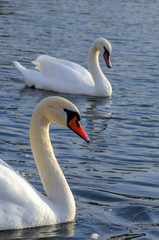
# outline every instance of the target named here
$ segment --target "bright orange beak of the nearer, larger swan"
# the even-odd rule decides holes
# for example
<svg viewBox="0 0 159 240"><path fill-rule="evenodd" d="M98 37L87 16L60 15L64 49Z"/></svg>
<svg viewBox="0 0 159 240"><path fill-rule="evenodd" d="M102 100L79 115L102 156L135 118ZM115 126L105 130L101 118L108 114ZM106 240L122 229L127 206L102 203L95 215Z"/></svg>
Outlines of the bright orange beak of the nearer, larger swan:
<svg viewBox="0 0 159 240"><path fill-rule="evenodd" d="M73 130L75 133L77 133L81 138L83 138L86 142L89 142L89 137L83 130L80 122L77 120L77 117L72 118L68 122L68 127Z"/></svg>

